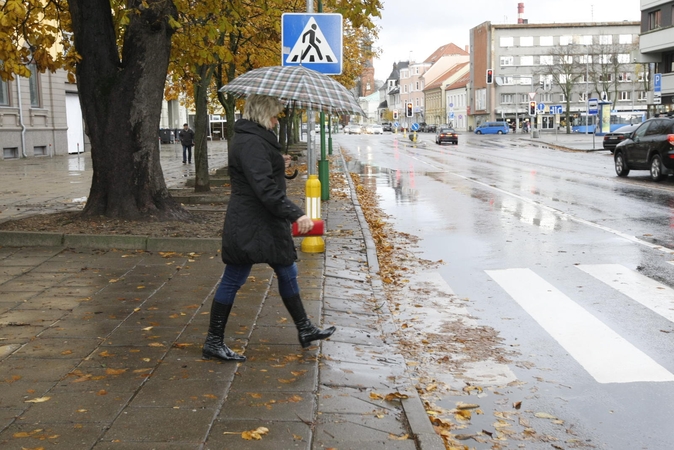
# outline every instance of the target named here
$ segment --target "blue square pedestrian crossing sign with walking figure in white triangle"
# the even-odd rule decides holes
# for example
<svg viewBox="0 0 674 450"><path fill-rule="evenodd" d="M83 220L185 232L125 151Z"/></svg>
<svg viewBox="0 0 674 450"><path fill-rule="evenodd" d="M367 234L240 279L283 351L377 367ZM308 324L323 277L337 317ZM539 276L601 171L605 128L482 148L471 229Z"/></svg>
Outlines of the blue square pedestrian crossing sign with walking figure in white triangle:
<svg viewBox="0 0 674 450"><path fill-rule="evenodd" d="M341 14L285 13L281 16L281 63L339 75L342 36Z"/></svg>

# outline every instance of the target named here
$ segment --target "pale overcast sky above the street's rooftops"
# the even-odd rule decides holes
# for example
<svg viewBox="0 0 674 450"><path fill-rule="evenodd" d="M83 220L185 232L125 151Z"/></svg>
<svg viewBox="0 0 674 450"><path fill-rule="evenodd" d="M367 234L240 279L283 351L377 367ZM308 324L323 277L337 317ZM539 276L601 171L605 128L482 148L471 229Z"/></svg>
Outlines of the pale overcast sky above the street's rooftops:
<svg viewBox="0 0 674 450"><path fill-rule="evenodd" d="M468 32L482 22L517 23L518 1L382 0L375 79L385 80L393 63L423 61L450 42L465 48ZM639 0L529 0L523 17L529 23L616 22L641 20Z"/></svg>

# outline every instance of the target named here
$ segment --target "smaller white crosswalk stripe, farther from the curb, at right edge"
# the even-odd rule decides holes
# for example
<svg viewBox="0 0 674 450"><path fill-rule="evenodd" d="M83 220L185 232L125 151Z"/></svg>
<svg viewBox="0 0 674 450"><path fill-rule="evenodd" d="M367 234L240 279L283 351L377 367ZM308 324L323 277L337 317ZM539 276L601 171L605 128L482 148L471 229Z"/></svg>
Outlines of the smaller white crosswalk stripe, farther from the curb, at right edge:
<svg viewBox="0 0 674 450"><path fill-rule="evenodd" d="M674 322L674 289L620 264L580 264L577 267Z"/></svg>

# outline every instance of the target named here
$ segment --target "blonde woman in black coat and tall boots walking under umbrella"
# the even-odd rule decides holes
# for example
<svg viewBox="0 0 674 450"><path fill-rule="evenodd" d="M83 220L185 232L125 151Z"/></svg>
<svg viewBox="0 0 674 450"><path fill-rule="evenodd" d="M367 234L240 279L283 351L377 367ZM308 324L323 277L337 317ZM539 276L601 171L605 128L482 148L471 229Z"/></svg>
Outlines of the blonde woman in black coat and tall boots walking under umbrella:
<svg viewBox="0 0 674 450"><path fill-rule="evenodd" d="M228 164L231 196L222 231L222 261L225 270L211 305L208 335L202 349L204 359L245 361L224 343L227 319L234 298L246 282L253 264L269 264L278 278L278 289L297 327L299 342L326 339L335 327L316 328L307 318L297 283L297 253L291 223L299 232L311 231L313 221L286 196L285 168L289 159L272 131L283 104L265 95L246 100L243 118L234 124Z"/></svg>

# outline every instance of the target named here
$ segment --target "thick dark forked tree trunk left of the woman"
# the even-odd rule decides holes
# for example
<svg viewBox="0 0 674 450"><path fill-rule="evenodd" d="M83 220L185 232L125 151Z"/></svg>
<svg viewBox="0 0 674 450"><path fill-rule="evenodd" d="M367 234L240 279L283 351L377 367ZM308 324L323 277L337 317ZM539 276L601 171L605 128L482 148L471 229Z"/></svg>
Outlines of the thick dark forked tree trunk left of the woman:
<svg viewBox="0 0 674 450"><path fill-rule="evenodd" d="M129 24L117 46L109 0L70 0L77 87L91 141L93 179L84 215L185 219L159 160L159 121L171 36L170 0L128 1Z"/></svg>

